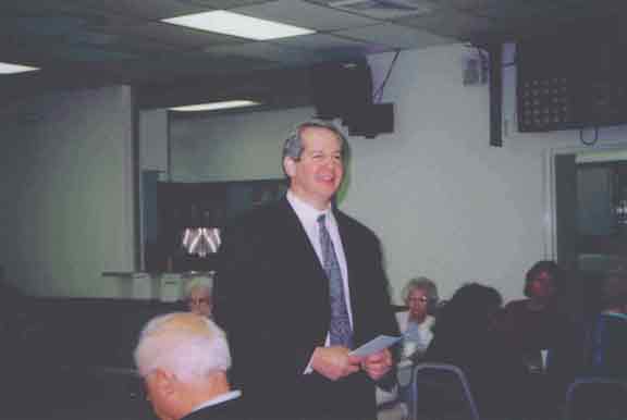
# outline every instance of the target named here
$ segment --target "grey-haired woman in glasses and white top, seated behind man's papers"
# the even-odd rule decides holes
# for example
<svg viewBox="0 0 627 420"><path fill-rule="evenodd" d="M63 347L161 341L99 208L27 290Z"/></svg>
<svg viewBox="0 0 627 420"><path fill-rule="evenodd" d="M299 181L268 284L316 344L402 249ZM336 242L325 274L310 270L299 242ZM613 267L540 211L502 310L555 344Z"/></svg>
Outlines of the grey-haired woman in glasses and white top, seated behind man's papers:
<svg viewBox="0 0 627 420"><path fill-rule="evenodd" d="M403 357L422 355L433 338L435 318L431 313L438 305L438 287L427 277L411 279L403 288L403 300L408 310L396 313L403 334Z"/></svg>

